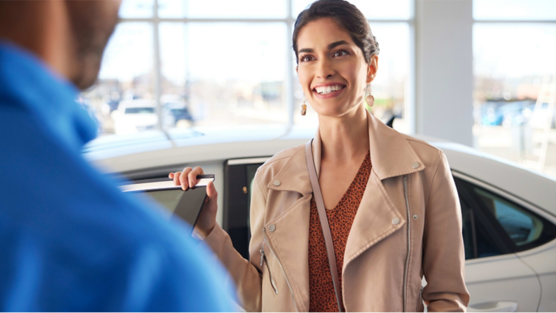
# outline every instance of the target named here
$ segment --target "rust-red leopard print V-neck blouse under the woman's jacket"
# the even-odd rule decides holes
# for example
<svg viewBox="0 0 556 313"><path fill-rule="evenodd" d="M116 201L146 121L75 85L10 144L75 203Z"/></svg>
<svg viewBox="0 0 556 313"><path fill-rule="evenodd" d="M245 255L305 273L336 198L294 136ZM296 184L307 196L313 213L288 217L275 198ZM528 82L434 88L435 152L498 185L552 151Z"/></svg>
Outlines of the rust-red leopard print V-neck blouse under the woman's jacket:
<svg viewBox="0 0 556 313"><path fill-rule="evenodd" d="M347 235L350 234L355 214L367 187L371 166L369 151L340 202L334 209L326 210L330 232L332 233L332 242L334 242L336 267L340 276L340 290L342 289L341 273ZM314 197L311 200L309 224L309 312L338 312L334 283L332 282L326 253L325 237L322 235Z"/></svg>

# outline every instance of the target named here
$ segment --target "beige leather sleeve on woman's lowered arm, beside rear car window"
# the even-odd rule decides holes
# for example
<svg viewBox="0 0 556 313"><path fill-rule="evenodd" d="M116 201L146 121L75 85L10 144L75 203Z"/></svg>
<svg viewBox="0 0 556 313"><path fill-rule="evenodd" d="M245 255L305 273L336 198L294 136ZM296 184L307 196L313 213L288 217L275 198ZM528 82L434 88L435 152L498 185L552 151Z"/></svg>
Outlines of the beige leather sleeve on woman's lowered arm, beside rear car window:
<svg viewBox="0 0 556 313"><path fill-rule="evenodd" d="M465 253L461 208L454 178L443 152L439 153L426 204L423 233L423 300L428 312L465 312Z"/></svg>

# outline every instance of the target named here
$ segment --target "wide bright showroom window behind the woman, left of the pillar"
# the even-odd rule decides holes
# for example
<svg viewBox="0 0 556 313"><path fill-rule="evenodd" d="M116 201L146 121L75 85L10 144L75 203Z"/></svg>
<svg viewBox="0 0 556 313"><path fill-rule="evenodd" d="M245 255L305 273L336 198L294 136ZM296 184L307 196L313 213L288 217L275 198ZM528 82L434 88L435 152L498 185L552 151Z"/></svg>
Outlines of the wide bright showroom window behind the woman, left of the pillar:
<svg viewBox="0 0 556 313"><path fill-rule="evenodd" d="M380 46L375 116L407 131L413 1L353 0ZM291 34L308 0L124 0L99 82L81 102L101 135L141 130L316 126Z"/></svg>

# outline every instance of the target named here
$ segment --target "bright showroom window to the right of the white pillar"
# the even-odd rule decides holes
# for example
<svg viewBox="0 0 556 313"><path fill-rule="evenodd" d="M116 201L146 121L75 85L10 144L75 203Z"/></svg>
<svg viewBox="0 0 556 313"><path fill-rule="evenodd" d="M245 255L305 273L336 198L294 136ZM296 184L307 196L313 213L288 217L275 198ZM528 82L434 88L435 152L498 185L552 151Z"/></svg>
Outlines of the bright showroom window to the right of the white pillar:
<svg viewBox="0 0 556 313"><path fill-rule="evenodd" d="M475 148L556 177L556 1L473 1Z"/></svg>

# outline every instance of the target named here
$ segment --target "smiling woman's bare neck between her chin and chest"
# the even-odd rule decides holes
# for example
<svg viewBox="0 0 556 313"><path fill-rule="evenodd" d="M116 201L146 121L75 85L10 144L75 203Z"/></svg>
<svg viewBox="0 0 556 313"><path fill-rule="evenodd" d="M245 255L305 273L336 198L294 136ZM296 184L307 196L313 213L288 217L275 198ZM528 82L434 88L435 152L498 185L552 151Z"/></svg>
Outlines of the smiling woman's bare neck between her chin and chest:
<svg viewBox="0 0 556 313"><path fill-rule="evenodd" d="M369 150L367 112L363 105L342 117L319 117L321 162L359 162Z"/></svg>

